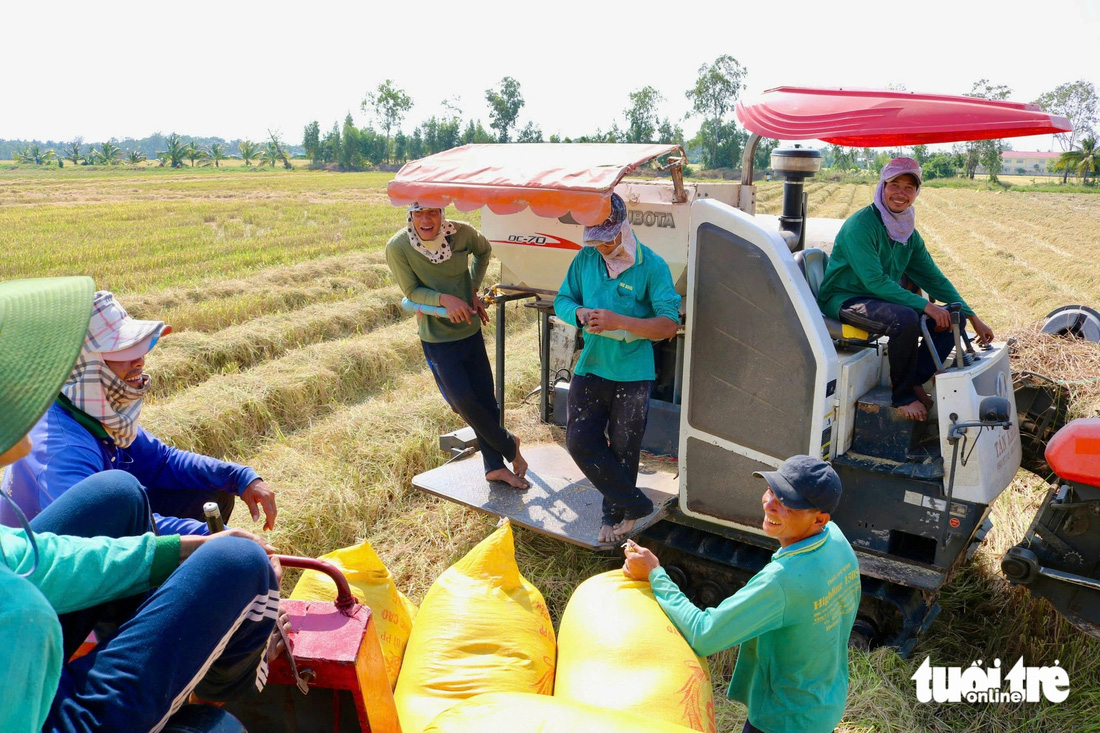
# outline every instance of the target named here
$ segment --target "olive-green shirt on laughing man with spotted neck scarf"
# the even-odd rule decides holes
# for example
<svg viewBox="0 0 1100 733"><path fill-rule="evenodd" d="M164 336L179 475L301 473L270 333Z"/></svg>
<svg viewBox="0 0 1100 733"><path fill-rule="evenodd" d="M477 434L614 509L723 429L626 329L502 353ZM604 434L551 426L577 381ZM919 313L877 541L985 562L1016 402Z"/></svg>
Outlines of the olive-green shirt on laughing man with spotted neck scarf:
<svg viewBox="0 0 1100 733"><path fill-rule="evenodd" d="M438 306L440 295L453 295L468 304L473 303L474 294L485 278L493 248L470 225L461 221L453 223L458 231L448 237L451 259L447 262L432 263L417 252L405 229L394 234L386 244L386 264L402 293L413 303ZM481 328L476 317L472 317L469 324L452 324L448 318L436 316L421 316L417 320L420 321L420 340L429 343L460 341Z"/></svg>

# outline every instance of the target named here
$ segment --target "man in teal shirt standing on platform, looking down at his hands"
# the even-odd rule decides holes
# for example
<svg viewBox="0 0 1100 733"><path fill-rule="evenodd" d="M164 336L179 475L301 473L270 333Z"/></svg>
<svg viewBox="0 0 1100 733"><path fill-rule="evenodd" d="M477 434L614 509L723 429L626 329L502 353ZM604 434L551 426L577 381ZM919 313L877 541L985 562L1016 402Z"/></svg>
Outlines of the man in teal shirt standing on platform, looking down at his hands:
<svg viewBox="0 0 1100 733"><path fill-rule="evenodd" d="M569 265L554 313L584 327L584 349L569 387L565 445L604 495L601 543L627 535L653 511L638 489L641 437L657 372L651 340L671 339L680 296L669 266L637 239L626 203L610 196L610 216L584 228L584 249Z"/></svg>

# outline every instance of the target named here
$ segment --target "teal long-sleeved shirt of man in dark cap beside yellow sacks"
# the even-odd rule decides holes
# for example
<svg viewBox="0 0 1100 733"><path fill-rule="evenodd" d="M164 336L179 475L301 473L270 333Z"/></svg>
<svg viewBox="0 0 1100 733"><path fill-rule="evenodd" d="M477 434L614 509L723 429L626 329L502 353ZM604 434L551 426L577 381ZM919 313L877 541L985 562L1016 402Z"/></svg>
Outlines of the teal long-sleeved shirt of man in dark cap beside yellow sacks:
<svg viewBox="0 0 1100 733"><path fill-rule="evenodd" d="M859 608L859 564L829 522L781 548L717 608L700 611L663 568L657 602L696 654L740 644L729 697L768 733L827 733L848 697L848 635Z"/></svg>

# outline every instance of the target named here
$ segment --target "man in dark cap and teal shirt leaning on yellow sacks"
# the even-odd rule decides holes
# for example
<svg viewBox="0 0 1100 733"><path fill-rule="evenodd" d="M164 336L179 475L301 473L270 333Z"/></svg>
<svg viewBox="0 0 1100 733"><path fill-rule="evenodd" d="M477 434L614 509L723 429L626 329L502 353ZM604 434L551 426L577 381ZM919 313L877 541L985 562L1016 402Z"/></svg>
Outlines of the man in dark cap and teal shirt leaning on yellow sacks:
<svg viewBox="0 0 1100 733"><path fill-rule="evenodd" d="M648 580L696 654L740 644L729 697L748 708L743 733L827 733L848 697L848 636L859 608L859 564L831 515L840 478L794 456L768 483L761 529L779 540L771 562L717 608L700 611L650 550L628 543L623 572Z"/></svg>

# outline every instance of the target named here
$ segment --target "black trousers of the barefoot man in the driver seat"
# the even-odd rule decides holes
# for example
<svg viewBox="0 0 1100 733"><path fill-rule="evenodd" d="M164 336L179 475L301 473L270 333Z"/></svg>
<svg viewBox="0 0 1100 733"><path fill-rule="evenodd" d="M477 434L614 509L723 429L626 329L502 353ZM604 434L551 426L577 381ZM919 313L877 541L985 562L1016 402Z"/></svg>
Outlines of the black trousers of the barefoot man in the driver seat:
<svg viewBox="0 0 1100 733"><path fill-rule="evenodd" d="M916 386L936 373L932 354L922 343L921 314L909 306L877 298L851 298L840 306L840 321L890 337L887 359L890 361L893 405L900 407L916 400ZM955 346L952 331L932 330L931 333L939 359L946 359Z"/></svg>

